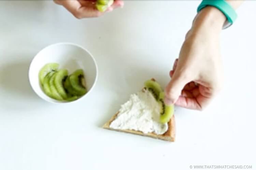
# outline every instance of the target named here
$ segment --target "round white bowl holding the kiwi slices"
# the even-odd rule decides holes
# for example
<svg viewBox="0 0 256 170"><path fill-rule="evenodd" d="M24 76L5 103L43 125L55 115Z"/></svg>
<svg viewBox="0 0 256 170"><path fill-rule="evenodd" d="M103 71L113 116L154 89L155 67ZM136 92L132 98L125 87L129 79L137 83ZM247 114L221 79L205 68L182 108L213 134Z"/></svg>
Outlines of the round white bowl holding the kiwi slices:
<svg viewBox="0 0 256 170"><path fill-rule="evenodd" d="M68 101L52 99L42 90L38 74L47 63L58 63L59 68L67 69L69 74L77 69L84 70L87 93L77 100L85 98L96 84L98 77L97 64L86 49L72 43L58 43L47 46L33 58L29 67L29 82L35 93L48 102L67 103Z"/></svg>

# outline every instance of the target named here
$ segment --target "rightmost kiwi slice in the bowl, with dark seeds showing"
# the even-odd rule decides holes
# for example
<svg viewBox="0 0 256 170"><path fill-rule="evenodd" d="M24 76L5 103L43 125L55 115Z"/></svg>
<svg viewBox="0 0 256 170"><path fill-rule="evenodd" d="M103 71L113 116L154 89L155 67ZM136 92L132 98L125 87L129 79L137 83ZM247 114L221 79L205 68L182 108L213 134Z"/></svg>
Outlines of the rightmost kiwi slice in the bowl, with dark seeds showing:
<svg viewBox="0 0 256 170"><path fill-rule="evenodd" d="M80 95L86 94L84 71L82 69L76 70L69 77L71 87Z"/></svg>

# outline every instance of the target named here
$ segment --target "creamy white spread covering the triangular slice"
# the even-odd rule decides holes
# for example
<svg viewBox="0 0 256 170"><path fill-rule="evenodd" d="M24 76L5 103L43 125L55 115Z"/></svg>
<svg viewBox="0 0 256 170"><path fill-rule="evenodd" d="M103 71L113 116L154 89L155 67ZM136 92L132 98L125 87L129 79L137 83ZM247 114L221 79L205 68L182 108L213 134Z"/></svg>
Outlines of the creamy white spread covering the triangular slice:
<svg viewBox="0 0 256 170"><path fill-rule="evenodd" d="M110 128L120 130L134 130L143 133L164 134L168 124L159 122L160 106L152 93L148 90L132 94L129 101L121 105Z"/></svg>

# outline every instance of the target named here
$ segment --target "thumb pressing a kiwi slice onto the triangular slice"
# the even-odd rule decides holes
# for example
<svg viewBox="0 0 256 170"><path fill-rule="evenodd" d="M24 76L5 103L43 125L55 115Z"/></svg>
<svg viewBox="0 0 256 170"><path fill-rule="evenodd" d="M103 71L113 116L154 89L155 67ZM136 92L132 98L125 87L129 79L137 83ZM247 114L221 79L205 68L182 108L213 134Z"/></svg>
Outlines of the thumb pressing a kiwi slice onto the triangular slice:
<svg viewBox="0 0 256 170"><path fill-rule="evenodd" d="M165 104L174 104L179 99L182 89L188 82L189 80L184 73L174 72L173 78L165 88Z"/></svg>

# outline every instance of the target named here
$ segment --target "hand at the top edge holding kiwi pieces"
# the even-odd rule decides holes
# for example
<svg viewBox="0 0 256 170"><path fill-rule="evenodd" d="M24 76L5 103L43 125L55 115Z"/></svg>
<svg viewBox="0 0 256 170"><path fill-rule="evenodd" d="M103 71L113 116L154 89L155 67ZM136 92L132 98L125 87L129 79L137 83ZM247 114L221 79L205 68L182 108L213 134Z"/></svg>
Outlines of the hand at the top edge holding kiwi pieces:
<svg viewBox="0 0 256 170"><path fill-rule="evenodd" d="M96 0L54 0L54 2L64 6L77 19L99 17L105 12L110 12L115 8L124 6L124 2L122 0L115 0L105 12L99 12L95 6Z"/></svg>

